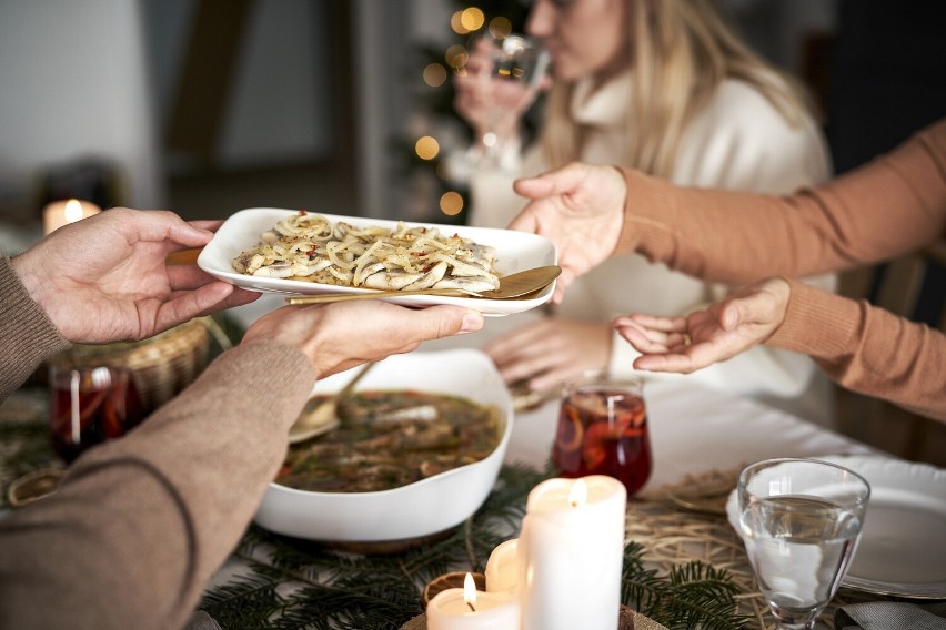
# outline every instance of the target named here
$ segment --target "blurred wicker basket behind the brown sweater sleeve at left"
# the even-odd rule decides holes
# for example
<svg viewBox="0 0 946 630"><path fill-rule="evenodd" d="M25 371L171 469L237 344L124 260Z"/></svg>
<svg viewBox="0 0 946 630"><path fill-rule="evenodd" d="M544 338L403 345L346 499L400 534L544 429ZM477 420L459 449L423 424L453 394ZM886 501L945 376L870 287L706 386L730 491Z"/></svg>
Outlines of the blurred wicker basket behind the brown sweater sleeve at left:
<svg viewBox="0 0 946 630"><path fill-rule="evenodd" d="M131 370L141 403L150 413L193 383L207 367L211 334L222 349L230 346L213 319L199 317L140 342L77 345L61 359Z"/></svg>

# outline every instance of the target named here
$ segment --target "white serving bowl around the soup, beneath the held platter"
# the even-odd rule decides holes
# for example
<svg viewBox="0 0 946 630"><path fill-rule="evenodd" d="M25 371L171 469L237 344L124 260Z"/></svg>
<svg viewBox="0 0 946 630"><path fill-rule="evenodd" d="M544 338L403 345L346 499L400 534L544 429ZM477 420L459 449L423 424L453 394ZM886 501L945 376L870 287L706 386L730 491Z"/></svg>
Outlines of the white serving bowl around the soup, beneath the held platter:
<svg viewBox="0 0 946 630"><path fill-rule="evenodd" d="M338 392L358 368L315 385ZM463 396L500 409L502 438L485 459L407 486L379 492L313 492L270 484L254 520L296 538L380 542L450 529L483 505L493 489L512 433L513 405L493 362L476 349L394 355L369 372L356 389L416 389Z"/></svg>

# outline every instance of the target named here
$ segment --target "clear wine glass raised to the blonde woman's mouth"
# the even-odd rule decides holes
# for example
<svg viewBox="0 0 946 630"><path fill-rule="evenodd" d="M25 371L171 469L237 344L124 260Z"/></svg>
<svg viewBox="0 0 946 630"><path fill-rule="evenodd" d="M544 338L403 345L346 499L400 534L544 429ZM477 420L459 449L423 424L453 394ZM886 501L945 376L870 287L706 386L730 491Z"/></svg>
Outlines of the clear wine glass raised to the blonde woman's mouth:
<svg viewBox="0 0 946 630"><path fill-rule="evenodd" d="M485 105L477 166L503 167L510 139L515 138L520 118L539 95L550 55L535 38L511 33L504 38L483 35L473 54L483 55L476 78Z"/></svg>

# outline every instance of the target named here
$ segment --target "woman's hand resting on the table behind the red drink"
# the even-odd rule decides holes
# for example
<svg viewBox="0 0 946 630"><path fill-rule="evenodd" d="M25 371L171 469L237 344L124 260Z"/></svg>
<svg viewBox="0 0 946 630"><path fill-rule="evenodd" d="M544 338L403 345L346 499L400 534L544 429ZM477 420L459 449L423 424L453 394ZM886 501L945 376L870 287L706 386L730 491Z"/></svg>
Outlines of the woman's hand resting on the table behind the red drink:
<svg viewBox="0 0 946 630"><path fill-rule="evenodd" d="M544 392L587 369L607 365L611 356L607 324L546 317L483 346L509 383L529 379L529 388Z"/></svg>

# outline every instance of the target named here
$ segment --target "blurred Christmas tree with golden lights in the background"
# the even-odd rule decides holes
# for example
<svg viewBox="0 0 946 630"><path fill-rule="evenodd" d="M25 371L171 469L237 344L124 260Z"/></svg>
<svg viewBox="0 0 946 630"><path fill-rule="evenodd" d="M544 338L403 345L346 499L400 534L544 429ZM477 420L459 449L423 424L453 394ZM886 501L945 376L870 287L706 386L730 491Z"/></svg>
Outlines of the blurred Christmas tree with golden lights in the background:
<svg viewBox="0 0 946 630"><path fill-rule="evenodd" d="M453 110L453 74L465 71L467 45L473 38L489 33L502 38L521 32L529 3L519 0L451 0L453 11L444 24L444 38L417 47L411 80L417 89L412 98L417 103L416 116L409 135L395 140L394 151L404 155L399 176L411 183L409 197L412 220L463 225L466 223L469 194L462 181L452 181L446 159L466 150L472 130Z"/></svg>

